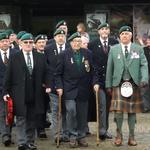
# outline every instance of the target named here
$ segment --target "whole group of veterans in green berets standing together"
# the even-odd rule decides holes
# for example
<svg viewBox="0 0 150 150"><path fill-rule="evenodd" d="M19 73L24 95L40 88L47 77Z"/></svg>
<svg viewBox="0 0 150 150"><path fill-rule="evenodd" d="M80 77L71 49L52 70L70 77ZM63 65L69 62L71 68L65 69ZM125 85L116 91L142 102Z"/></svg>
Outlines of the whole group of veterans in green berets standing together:
<svg viewBox="0 0 150 150"><path fill-rule="evenodd" d="M33 37L26 31L0 33L0 133L6 147L13 144L13 124L6 123L9 97L18 150L36 150L36 133L47 138L49 109L54 141L68 142L70 148L87 147L89 105L95 102L96 92L99 138L113 138L108 132L109 112L113 111L114 144L121 146L123 116L127 113L128 145L137 145L136 113L144 109L140 91L149 84L150 37L143 48L132 42L132 28L122 26L117 41L110 37L109 24L102 23L97 28L98 38L90 41L88 33L80 29L83 25L80 23L77 32L68 37L67 23L61 20L52 39L45 34Z"/></svg>

